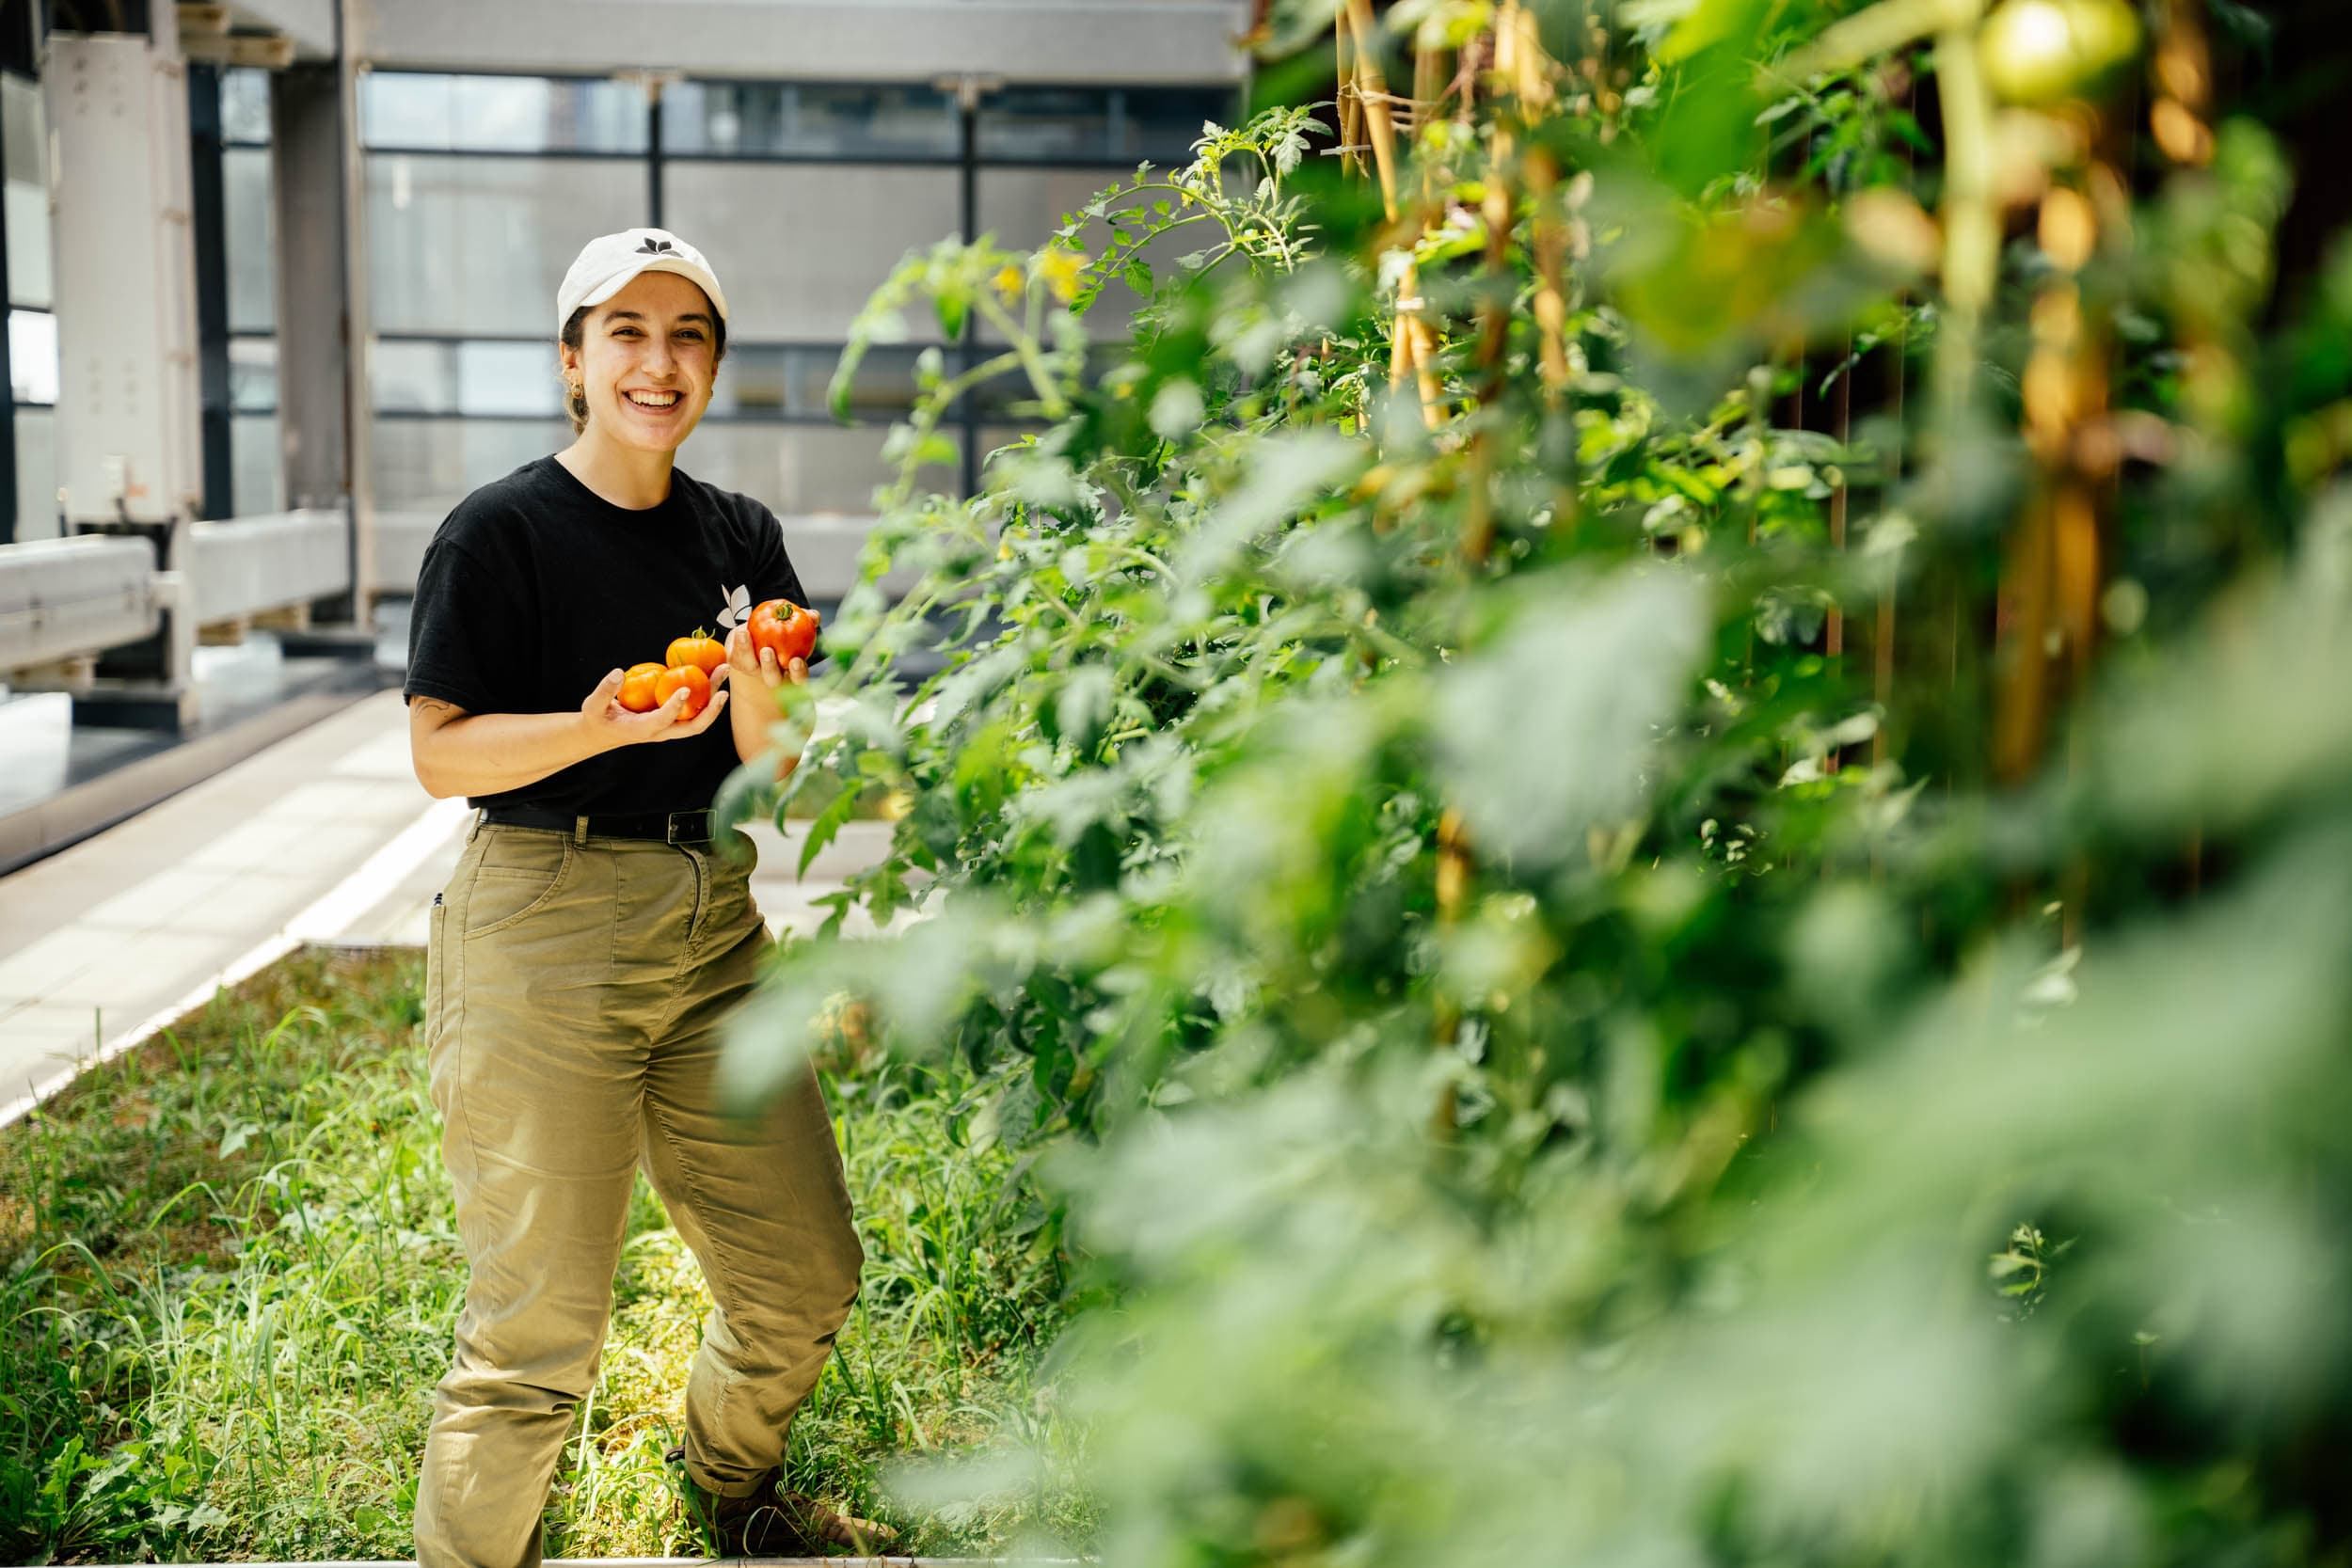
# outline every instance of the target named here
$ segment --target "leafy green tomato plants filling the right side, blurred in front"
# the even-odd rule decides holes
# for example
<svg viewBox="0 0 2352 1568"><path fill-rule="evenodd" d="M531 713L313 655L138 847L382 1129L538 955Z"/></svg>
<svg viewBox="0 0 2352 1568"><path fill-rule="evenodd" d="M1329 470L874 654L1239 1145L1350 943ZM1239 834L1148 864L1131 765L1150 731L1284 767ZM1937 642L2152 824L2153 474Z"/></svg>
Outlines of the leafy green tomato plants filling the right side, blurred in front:
<svg viewBox="0 0 2352 1568"><path fill-rule="evenodd" d="M1421 136L1418 240L1305 162L1244 221L1214 169L1301 122L1211 127L1171 181L1282 242L1155 280L1108 362L1073 310L1164 221L1124 195L877 294L861 336L946 289L1007 350L917 409L776 809L891 790L844 912L920 919L788 950L729 1072L856 1018L978 1074L1105 1291L1063 1380L1105 1561L2343 1559L2352 292L2260 336L2241 122L2067 282L2131 442L2103 672L2002 764L2065 280L1938 292L1983 115L1893 82L1962 9L1646 7L1621 78ZM1865 371L1851 433L1790 418ZM997 374L1042 428L917 494ZM1828 630L1882 602L1886 682Z"/></svg>

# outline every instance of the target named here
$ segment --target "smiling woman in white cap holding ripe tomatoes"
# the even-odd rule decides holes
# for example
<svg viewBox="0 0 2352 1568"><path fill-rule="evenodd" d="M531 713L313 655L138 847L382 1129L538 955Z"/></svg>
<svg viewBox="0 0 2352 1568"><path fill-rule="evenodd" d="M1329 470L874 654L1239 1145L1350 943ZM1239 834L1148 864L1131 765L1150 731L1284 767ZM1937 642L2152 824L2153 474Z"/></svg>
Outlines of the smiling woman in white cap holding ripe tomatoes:
<svg viewBox="0 0 2352 1568"><path fill-rule="evenodd" d="M755 651L739 611L807 595L764 505L675 468L727 350L701 252L659 228L590 240L555 320L576 440L449 512L409 623L416 778L480 806L426 966L470 1281L416 1561L539 1561L640 1164L715 1302L670 1455L694 1519L724 1554L863 1549L889 1530L779 1493L786 1425L863 1262L833 1124L814 1074L757 1121L722 1114L713 1088L769 938L748 839L717 844L708 809L769 750L771 691L807 679ZM684 691L621 708L621 665L713 621L734 630L699 715Z"/></svg>

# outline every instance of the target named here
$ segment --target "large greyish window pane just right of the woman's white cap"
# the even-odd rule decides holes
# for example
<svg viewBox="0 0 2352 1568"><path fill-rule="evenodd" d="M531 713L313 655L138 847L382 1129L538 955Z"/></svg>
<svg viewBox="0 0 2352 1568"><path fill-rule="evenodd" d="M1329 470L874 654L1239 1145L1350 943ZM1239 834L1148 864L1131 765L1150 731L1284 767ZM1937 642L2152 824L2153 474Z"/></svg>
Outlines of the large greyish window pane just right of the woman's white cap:
<svg viewBox="0 0 2352 1568"><path fill-rule="evenodd" d="M955 169L668 162L663 181L668 226L729 284L729 339L837 343L908 249L957 228ZM908 331L936 341L938 322Z"/></svg>

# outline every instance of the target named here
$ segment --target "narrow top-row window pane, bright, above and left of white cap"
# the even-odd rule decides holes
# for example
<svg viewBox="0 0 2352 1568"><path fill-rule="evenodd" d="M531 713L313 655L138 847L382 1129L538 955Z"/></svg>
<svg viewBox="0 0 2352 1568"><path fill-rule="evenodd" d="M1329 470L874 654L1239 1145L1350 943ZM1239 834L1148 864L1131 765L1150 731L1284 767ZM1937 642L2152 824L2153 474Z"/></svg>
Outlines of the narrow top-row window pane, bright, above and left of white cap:
<svg viewBox="0 0 2352 1568"><path fill-rule="evenodd" d="M612 80L369 71L360 141L430 153L642 153L644 92Z"/></svg>

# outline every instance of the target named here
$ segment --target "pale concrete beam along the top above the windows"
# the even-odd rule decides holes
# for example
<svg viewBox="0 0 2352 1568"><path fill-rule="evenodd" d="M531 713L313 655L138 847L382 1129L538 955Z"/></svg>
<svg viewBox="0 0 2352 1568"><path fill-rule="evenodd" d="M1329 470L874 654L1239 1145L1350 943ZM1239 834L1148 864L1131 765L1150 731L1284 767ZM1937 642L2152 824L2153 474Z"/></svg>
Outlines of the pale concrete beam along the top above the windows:
<svg viewBox="0 0 2352 1568"><path fill-rule="evenodd" d="M350 24L358 59L437 71L1216 82L1249 0L353 0Z"/></svg>

